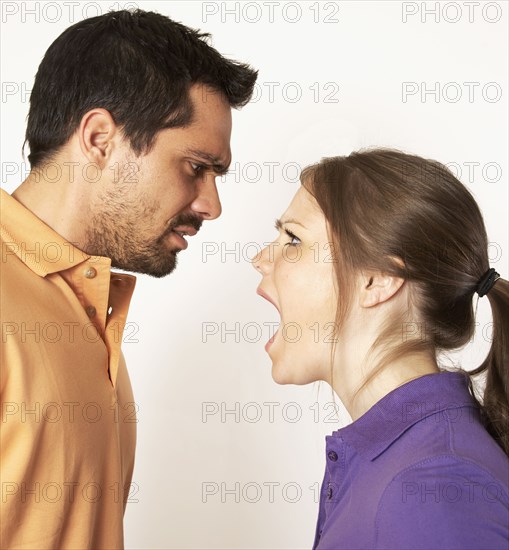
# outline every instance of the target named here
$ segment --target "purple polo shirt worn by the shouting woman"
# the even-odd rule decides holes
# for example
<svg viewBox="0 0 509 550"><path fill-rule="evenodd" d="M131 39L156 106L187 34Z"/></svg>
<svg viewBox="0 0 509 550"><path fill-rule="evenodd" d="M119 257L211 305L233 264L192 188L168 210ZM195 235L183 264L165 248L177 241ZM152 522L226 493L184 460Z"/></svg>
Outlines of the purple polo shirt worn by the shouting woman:
<svg viewBox="0 0 509 550"><path fill-rule="evenodd" d="M325 439L313 550L509 549L509 458L465 375L407 382Z"/></svg>

